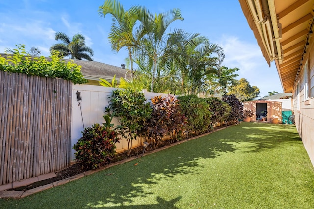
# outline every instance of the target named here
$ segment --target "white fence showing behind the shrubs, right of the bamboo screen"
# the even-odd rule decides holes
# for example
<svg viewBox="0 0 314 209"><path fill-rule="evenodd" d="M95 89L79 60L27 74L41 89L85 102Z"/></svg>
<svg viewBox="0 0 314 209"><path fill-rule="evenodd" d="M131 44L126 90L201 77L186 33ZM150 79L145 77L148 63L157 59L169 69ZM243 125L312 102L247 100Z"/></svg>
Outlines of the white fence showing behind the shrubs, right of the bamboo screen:
<svg viewBox="0 0 314 209"><path fill-rule="evenodd" d="M91 127L95 123L102 124L105 122L103 116L105 115L105 107L109 105L109 97L112 94L112 91L116 88L95 86L95 85L73 85L72 88L72 121L71 121L71 160L73 160L75 150L72 148L74 144L77 143L78 139L82 137L83 123L82 116L84 121L84 127ZM81 105L78 106L76 99L76 92L81 93ZM147 99L147 102L150 102L151 98L156 95L167 96L165 93L152 93L143 90L143 93ZM82 109L82 116L80 112ZM119 122L117 119L112 121L115 125L118 125ZM125 139L121 139L120 143L116 144L117 152L123 152L128 148L128 143ZM133 141L133 147L141 146L141 141Z"/></svg>

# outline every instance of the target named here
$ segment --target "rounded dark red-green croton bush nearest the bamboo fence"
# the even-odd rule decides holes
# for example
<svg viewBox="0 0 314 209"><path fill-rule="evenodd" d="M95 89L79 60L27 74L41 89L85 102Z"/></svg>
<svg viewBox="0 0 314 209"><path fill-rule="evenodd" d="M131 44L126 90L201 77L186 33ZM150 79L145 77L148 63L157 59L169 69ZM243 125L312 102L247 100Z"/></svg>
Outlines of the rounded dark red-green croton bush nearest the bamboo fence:
<svg viewBox="0 0 314 209"><path fill-rule="evenodd" d="M75 159L83 169L96 169L110 163L115 154L118 133L111 126L101 126L96 123L85 128L83 136L73 146Z"/></svg>

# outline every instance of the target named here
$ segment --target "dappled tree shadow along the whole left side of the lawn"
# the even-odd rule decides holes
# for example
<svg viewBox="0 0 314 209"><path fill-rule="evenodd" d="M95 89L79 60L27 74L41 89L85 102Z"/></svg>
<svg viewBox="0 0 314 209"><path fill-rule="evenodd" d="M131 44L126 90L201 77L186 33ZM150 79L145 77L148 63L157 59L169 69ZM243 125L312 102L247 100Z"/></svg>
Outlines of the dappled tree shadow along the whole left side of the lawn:
<svg viewBox="0 0 314 209"><path fill-rule="evenodd" d="M295 127L286 128L269 124L240 124L111 167L21 201L32 199L31 202L36 201L38 206L47 206L53 205L53 201L57 199L58 205L66 206L73 202L77 208L127 208L125 204L132 205L132 208L154 208L155 206L156 208L166 206L175 208L174 204L181 197L172 200L163 200L158 196L154 198L157 194L154 194L150 188L154 185L158 186L160 181L165 181L165 184L167 181L171 183L169 181L179 174L197 175L204 167L202 160L218 158L224 153L243 151L242 142L251 146L250 152L275 148L285 142L299 143L300 138L297 137L293 128L295 129ZM162 189L163 187L160 187L161 191ZM167 192L164 191L165 194ZM52 196L55 196L54 199ZM169 197L169 194L167 196ZM155 199L158 204L145 205L142 203L144 198L151 201Z"/></svg>

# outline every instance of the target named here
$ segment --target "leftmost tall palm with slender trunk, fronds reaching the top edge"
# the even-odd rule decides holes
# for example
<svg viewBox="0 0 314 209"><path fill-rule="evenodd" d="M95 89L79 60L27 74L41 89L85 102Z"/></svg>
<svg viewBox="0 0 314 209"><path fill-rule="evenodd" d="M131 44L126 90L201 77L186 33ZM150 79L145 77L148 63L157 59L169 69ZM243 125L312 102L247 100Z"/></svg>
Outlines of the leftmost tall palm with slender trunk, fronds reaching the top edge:
<svg viewBox="0 0 314 209"><path fill-rule="evenodd" d="M131 80L133 81L133 53L136 48L136 39L133 35L136 18L132 17L126 11L123 5L116 0L105 0L104 5L98 9L99 15L104 17L107 14L112 15L112 27L109 33L109 40L112 50L119 51L123 47L127 47L130 61Z"/></svg>

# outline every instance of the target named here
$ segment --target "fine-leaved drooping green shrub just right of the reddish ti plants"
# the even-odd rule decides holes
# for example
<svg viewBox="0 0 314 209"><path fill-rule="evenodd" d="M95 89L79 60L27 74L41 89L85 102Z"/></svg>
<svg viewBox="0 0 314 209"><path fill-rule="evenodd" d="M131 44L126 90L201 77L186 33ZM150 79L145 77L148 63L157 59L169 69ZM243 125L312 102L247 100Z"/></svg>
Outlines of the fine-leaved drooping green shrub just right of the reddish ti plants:
<svg viewBox="0 0 314 209"><path fill-rule="evenodd" d="M180 96L180 107L183 114L187 117L187 130L196 134L205 133L211 124L209 105L205 99L198 98L196 95Z"/></svg>

